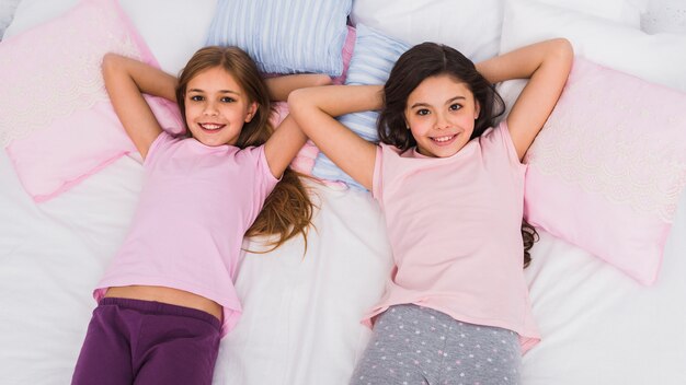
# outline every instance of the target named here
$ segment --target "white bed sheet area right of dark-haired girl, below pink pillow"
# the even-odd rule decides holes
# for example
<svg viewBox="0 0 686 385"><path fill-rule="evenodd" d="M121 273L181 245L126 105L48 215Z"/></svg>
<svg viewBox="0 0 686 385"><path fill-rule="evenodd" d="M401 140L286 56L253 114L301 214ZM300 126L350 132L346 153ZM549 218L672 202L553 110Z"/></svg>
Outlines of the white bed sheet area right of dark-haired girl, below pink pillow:
<svg viewBox="0 0 686 385"><path fill-rule="evenodd" d="M686 384L686 195L652 287L547 233L533 258L542 341L524 355L524 384Z"/></svg>

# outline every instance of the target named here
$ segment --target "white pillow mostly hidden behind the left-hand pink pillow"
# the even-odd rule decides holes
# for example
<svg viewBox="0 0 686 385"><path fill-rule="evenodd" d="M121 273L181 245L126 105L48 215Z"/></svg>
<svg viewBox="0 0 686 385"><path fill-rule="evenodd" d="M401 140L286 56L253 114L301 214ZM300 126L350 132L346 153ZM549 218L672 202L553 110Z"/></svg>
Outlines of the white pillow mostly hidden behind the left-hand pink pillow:
<svg viewBox="0 0 686 385"><path fill-rule="evenodd" d="M4 38L54 19L78 0L22 0ZM121 0L122 8L148 44L160 67L176 74L205 37L217 0Z"/></svg>

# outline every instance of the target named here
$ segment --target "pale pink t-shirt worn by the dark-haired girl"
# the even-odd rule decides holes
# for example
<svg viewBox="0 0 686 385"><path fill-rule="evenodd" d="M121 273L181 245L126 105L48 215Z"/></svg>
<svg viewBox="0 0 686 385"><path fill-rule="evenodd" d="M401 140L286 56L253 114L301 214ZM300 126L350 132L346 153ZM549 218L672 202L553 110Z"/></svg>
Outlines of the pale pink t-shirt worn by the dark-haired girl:
<svg viewBox="0 0 686 385"><path fill-rule="evenodd" d="M505 124L449 158L381 144L373 195L396 268L363 322L370 326L388 306L413 303L516 331L523 351L538 342L523 273L525 171Z"/></svg>

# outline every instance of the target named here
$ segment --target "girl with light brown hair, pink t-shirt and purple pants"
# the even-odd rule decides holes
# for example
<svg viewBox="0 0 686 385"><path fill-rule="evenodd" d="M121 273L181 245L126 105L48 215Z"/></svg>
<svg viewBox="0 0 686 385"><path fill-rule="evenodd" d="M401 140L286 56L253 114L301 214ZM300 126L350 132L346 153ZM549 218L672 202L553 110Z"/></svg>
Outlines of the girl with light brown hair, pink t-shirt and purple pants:
<svg viewBox="0 0 686 385"><path fill-rule="evenodd" d="M312 205L288 168L306 137L271 100L330 83L320 74L263 80L235 47L205 47L179 78L107 54L117 117L144 159L132 228L94 291L72 384L209 384L219 339L241 313L233 288L244 235L306 235ZM185 137L164 132L144 94L175 101Z"/></svg>

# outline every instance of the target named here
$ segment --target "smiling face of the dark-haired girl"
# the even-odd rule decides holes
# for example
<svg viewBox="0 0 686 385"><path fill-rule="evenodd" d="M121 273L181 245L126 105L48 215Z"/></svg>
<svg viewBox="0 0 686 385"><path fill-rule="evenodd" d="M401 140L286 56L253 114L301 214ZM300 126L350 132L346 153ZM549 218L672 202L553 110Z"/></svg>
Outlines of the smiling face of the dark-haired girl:
<svg viewBox="0 0 686 385"><path fill-rule="evenodd" d="M447 158L469 141L479 105L464 82L439 74L424 79L410 93L404 115L419 152Z"/></svg>

